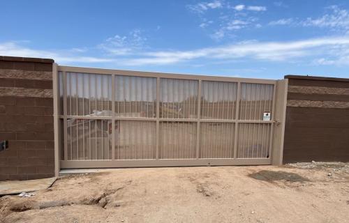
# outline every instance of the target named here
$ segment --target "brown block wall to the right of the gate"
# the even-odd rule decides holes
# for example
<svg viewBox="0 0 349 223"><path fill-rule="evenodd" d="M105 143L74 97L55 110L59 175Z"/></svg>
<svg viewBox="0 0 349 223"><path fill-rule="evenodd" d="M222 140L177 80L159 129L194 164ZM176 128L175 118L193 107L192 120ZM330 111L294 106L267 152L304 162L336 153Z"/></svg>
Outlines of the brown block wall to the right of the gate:
<svg viewBox="0 0 349 223"><path fill-rule="evenodd" d="M283 163L349 162L349 79L288 75Z"/></svg>

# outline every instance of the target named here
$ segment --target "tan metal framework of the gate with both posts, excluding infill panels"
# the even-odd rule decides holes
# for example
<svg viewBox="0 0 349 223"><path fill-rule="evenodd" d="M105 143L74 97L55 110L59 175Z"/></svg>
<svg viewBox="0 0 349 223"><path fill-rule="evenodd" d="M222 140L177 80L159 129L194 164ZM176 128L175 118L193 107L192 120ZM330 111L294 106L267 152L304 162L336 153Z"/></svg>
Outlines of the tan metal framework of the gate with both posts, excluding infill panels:
<svg viewBox="0 0 349 223"><path fill-rule="evenodd" d="M285 109L287 102L287 89L288 79L274 80L274 79L250 79L250 78L237 78L237 77L217 77L217 76L204 76L204 75L184 75L184 74L172 74L163 72L142 72L131 70L112 70L102 68L81 68L73 66L59 66L57 63L53 64L53 96L54 96L54 166L55 174L58 176L59 170L66 168L98 168L98 167L173 167L173 166L205 166L205 165L255 165L255 164L282 164L283 155L283 138L285 130ZM59 120L66 117L59 114L59 82L58 74L62 72L63 77L66 76L66 72L77 73L89 73L97 75L112 75L112 112L114 112L114 77L115 75L133 76L133 77L153 77L156 78L156 118L137 118L137 117L84 117L84 116L69 116L71 118L86 118L86 119L108 119L112 120L112 125L116 120L131 120L131 121L156 121L156 159L154 160L60 160L60 151L63 148L59 148ZM159 103L160 103L160 79L187 79L198 81L198 116L197 118L160 118L159 117ZM236 109L235 119L200 119L200 103L201 103L201 87L202 81L216 81L216 82L235 82L237 83L237 99L236 108L239 108L240 91L242 83L251 84L272 84L274 85L273 105L272 105L272 121L258 121L258 120L239 120L239 109ZM66 87L64 87L66 89ZM64 91L66 93L66 91ZM66 95L64 94L64 100ZM114 113L113 113L114 114ZM196 157L194 159L158 159L159 149L159 123L160 121L188 121L197 123L196 132ZM235 123L235 138L234 138L234 156L230 159L227 158L214 158L214 159L200 159L199 147L200 147L200 123ZM65 123L65 122L64 122ZM239 123L271 123L271 134L269 144L269 157L268 158L237 158L237 128ZM66 123L65 123L66 125ZM114 127L114 126L113 126ZM114 130L114 128L112 128ZM66 131L64 131L66 132ZM66 145L66 137L64 145ZM114 134L112 134L114 138ZM66 155L66 146L64 146ZM112 154L114 154L115 145L112 140ZM84 164L82 167L81 164Z"/></svg>

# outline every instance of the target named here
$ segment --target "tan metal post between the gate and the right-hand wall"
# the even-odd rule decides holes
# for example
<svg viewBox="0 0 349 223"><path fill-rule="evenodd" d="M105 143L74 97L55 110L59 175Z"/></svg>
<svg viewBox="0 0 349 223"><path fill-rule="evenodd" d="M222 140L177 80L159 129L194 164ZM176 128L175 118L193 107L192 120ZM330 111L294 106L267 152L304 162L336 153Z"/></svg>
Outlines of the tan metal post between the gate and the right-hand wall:
<svg viewBox="0 0 349 223"><path fill-rule="evenodd" d="M285 133L285 116L288 92L288 79L276 81L276 103L274 114L274 135L272 146L272 165L283 163L283 139Z"/></svg>

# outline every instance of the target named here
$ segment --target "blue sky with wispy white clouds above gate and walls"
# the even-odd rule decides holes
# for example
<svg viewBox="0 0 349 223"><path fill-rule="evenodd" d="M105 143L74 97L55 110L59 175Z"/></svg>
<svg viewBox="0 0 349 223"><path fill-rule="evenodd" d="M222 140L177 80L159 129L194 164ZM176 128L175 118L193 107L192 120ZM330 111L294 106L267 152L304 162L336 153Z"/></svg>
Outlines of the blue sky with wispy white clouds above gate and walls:
<svg viewBox="0 0 349 223"><path fill-rule="evenodd" d="M349 1L2 1L0 55L282 79L349 77Z"/></svg>

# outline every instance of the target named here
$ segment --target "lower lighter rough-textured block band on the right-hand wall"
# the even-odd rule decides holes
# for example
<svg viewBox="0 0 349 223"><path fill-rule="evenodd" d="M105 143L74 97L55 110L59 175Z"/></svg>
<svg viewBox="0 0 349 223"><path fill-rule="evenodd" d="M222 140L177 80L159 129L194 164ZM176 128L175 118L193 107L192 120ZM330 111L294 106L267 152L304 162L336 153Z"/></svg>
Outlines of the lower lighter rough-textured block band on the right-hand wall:
<svg viewBox="0 0 349 223"><path fill-rule="evenodd" d="M288 100L288 107L318 107L318 108L336 108L348 109L349 102L333 102L333 101L318 101L318 100Z"/></svg>

